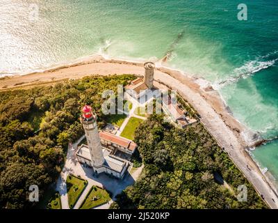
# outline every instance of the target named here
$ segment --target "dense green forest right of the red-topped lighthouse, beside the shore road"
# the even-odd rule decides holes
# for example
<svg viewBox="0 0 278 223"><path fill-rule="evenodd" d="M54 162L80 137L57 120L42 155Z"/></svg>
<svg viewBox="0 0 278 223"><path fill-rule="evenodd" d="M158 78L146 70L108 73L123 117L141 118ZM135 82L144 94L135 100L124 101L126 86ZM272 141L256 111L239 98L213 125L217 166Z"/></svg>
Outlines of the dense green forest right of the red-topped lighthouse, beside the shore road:
<svg viewBox="0 0 278 223"><path fill-rule="evenodd" d="M152 115L135 141L145 167L111 208L268 208L202 124L182 130ZM247 201L236 198L238 185Z"/></svg>

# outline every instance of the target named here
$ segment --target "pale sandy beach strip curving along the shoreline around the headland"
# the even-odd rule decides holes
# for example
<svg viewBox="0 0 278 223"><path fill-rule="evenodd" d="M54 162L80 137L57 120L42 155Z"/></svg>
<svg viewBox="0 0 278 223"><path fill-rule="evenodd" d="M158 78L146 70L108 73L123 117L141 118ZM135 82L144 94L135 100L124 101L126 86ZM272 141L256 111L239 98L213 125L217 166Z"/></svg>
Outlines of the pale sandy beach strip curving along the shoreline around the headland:
<svg viewBox="0 0 278 223"><path fill-rule="evenodd" d="M90 56L88 59L71 65L51 68L43 72L28 75L15 75L0 79L0 91L10 89L26 89L33 86L53 84L63 79L79 79L88 75L143 75L142 62L124 61L120 59L104 59L102 56ZM252 157L245 151L247 144L243 132L247 131L224 105L217 91L211 87L202 89L195 79L160 64L156 64L154 78L156 84L164 84L187 100L201 116L201 122L224 148L231 160L250 180L259 194L263 194L270 208L278 208L277 189L272 182L261 173ZM274 201L273 201L274 200Z"/></svg>

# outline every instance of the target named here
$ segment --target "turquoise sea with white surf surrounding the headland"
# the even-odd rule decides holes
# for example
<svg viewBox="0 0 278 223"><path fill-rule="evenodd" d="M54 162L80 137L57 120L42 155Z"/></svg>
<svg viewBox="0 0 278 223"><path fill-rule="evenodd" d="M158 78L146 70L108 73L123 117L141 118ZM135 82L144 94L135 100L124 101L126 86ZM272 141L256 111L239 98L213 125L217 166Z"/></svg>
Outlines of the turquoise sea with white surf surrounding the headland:
<svg viewBox="0 0 278 223"><path fill-rule="evenodd" d="M238 121L270 140L252 153L278 179L278 1L246 0L247 21L239 3L0 0L0 76L91 54L170 52L170 66L211 82Z"/></svg>

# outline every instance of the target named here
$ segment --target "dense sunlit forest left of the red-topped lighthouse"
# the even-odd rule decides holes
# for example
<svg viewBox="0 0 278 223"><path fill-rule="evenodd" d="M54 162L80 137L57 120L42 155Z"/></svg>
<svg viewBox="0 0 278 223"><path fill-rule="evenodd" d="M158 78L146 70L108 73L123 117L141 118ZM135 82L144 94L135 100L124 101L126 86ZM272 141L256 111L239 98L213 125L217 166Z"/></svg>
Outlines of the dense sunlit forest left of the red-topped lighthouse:
<svg viewBox="0 0 278 223"><path fill-rule="evenodd" d="M67 145L83 132L79 122L83 105L92 105L98 124L101 93L117 92L132 75L85 77L48 86L0 93L0 207L33 208L29 186L38 185L40 198L63 168Z"/></svg>

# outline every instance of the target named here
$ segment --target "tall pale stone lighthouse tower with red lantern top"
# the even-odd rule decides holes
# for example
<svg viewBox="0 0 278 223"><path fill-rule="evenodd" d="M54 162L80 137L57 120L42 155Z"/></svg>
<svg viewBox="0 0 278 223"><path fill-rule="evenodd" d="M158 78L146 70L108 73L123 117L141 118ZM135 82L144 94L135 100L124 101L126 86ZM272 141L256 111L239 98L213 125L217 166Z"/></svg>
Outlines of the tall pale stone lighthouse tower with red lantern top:
<svg viewBox="0 0 278 223"><path fill-rule="evenodd" d="M85 130L92 167L99 173L104 164L104 154L102 153L99 131L97 130L97 116L93 114L92 107L88 105L83 107L80 120Z"/></svg>

